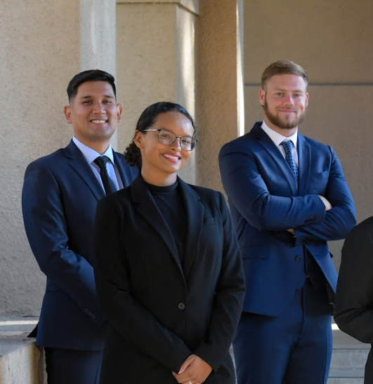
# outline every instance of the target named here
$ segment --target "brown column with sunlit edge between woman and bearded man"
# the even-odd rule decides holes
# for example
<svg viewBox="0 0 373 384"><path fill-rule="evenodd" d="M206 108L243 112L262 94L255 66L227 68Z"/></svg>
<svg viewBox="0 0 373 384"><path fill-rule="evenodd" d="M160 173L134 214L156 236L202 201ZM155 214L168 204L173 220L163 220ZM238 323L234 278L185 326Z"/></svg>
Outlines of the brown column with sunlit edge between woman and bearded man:
<svg viewBox="0 0 373 384"><path fill-rule="evenodd" d="M218 153L244 133L242 0L203 0L198 35L199 185L223 190Z"/></svg>

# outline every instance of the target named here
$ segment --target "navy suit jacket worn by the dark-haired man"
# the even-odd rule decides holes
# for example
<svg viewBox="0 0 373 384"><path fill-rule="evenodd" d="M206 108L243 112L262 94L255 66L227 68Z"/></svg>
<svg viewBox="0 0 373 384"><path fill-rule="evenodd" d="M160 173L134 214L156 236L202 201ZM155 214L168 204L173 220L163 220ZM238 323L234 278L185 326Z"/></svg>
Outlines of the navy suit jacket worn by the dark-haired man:
<svg viewBox="0 0 373 384"><path fill-rule="evenodd" d="M129 185L136 170L116 152L114 163L123 185ZM96 298L92 238L96 205L104 196L73 142L27 167L23 218L32 252L47 277L37 345L103 349L106 326Z"/></svg>

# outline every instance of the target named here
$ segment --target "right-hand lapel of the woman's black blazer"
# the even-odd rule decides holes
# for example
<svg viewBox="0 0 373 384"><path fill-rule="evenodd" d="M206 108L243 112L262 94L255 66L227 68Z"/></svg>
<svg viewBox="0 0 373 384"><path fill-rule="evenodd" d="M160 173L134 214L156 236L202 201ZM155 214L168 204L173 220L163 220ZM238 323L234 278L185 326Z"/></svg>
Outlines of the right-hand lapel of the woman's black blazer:
<svg viewBox="0 0 373 384"><path fill-rule="evenodd" d="M183 260L184 276L187 279L198 249L199 236L203 225L204 206L199 201L198 194L188 184L184 183L180 178L178 178L178 183L185 204L187 220Z"/></svg>

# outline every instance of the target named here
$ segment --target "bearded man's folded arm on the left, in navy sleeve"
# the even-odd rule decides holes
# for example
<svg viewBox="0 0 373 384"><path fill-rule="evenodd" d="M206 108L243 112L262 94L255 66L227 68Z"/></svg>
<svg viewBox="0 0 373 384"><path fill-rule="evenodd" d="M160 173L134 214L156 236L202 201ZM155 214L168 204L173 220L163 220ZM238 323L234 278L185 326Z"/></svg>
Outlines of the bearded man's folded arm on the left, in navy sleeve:
<svg viewBox="0 0 373 384"><path fill-rule="evenodd" d="M282 197L270 194L253 154L223 147L219 155L221 178L228 197L250 225L281 231L309 220L322 221L325 205L317 194Z"/></svg>

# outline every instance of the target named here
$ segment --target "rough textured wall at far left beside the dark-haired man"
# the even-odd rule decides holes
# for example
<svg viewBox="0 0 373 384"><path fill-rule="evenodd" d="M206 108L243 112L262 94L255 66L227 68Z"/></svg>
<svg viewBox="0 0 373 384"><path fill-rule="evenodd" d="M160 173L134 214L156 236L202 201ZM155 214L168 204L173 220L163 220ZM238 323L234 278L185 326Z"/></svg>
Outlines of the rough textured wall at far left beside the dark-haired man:
<svg viewBox="0 0 373 384"><path fill-rule="evenodd" d="M79 72L79 2L1 1L0 55L0 314L39 315L45 278L25 236L21 190L27 164L72 135L63 106Z"/></svg>

